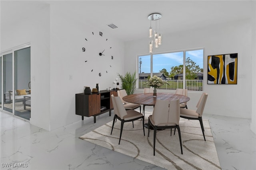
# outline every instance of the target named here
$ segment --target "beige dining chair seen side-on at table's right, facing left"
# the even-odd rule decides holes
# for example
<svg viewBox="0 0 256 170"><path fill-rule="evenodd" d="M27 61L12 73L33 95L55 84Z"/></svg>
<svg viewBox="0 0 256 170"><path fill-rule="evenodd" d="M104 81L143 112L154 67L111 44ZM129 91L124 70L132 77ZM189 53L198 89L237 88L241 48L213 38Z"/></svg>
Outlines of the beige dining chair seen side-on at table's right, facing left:
<svg viewBox="0 0 256 170"><path fill-rule="evenodd" d="M199 120L203 135L204 135L204 124L202 121L202 114L204 112L204 106L205 106L207 97L208 97L207 93L202 93L198 101L198 104L196 105L197 107L196 110L180 108L180 117L185 119ZM205 136L204 136L204 141L205 141Z"/></svg>

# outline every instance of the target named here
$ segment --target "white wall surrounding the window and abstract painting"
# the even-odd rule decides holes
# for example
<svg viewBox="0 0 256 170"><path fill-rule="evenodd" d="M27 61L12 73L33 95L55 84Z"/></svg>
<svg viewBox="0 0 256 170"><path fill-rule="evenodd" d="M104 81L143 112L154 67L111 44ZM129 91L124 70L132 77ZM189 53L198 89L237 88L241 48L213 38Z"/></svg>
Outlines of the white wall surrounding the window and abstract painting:
<svg viewBox="0 0 256 170"><path fill-rule="evenodd" d="M251 36L250 20L223 23L163 35L162 45L154 49L154 52L204 47L204 92L209 94L204 113L251 118ZM148 53L148 41L149 39L142 39L126 42L125 71L134 72L137 69L137 55ZM208 85L207 56L228 53L238 53L238 83L236 85ZM196 92L188 93L191 98L188 102L190 109L195 109L200 95Z"/></svg>

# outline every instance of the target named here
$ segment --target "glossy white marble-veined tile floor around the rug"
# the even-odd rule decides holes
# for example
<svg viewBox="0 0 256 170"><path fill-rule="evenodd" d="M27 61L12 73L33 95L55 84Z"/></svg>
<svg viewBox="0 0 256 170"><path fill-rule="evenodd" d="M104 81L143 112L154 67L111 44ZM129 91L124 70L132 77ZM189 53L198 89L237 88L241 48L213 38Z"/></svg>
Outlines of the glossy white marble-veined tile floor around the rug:
<svg viewBox="0 0 256 170"><path fill-rule="evenodd" d="M162 169L78 139L111 121L113 114L111 117L108 114L98 116L96 123L93 117L85 117L84 121L50 132L8 113L0 112L0 118L3 170ZM256 135L250 130L249 119L207 114L203 118L209 119L222 170L256 169ZM28 167L3 168L3 163L22 163Z"/></svg>

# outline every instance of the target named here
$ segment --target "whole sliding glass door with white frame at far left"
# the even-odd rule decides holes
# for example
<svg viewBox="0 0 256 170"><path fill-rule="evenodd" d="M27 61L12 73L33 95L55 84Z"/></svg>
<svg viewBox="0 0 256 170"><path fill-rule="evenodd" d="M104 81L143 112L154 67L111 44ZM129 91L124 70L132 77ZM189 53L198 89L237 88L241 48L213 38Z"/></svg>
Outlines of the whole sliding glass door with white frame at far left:
<svg viewBox="0 0 256 170"><path fill-rule="evenodd" d="M0 59L0 107L30 120L30 45L3 52Z"/></svg>

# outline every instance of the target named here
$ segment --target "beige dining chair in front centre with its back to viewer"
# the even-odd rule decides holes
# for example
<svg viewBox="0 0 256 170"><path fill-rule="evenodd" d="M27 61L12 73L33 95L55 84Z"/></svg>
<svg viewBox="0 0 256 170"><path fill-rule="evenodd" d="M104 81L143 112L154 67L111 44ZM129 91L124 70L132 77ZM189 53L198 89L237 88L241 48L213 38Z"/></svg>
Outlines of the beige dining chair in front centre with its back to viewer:
<svg viewBox="0 0 256 170"><path fill-rule="evenodd" d="M177 128L180 138L180 150L182 152L182 143L180 135L180 100L156 100L153 114L148 117L148 127L154 128L154 155L156 147L156 131L158 129ZM148 128L149 137L149 128Z"/></svg>

